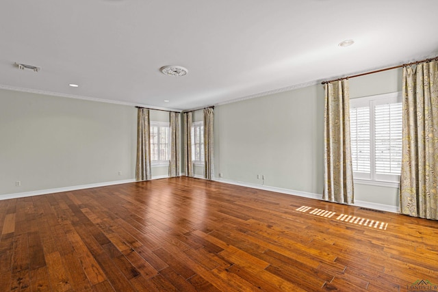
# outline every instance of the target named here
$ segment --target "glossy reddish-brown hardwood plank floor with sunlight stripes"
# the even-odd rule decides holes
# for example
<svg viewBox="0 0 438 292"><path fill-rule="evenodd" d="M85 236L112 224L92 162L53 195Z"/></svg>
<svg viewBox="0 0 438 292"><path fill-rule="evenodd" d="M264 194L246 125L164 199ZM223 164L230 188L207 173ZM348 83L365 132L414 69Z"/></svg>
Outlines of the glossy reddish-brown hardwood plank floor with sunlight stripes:
<svg viewBox="0 0 438 292"><path fill-rule="evenodd" d="M438 222L196 178L2 200L0 230L0 291L438 284Z"/></svg>

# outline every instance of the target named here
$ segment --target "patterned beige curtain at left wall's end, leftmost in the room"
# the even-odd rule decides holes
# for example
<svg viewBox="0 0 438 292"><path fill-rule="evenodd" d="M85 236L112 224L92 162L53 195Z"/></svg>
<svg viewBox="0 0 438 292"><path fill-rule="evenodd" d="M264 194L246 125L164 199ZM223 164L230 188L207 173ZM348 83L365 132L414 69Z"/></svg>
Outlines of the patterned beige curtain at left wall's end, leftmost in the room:
<svg viewBox="0 0 438 292"><path fill-rule="evenodd" d="M138 109L136 180L151 179L151 143L149 134L149 109Z"/></svg>

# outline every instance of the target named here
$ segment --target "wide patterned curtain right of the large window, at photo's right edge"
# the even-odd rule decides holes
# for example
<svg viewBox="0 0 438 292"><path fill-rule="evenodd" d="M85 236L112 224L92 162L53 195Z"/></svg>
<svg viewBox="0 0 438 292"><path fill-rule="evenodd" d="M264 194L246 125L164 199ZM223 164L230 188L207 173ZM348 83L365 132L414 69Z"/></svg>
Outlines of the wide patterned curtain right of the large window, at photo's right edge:
<svg viewBox="0 0 438 292"><path fill-rule="evenodd" d="M438 62L403 68L400 212L438 220Z"/></svg>

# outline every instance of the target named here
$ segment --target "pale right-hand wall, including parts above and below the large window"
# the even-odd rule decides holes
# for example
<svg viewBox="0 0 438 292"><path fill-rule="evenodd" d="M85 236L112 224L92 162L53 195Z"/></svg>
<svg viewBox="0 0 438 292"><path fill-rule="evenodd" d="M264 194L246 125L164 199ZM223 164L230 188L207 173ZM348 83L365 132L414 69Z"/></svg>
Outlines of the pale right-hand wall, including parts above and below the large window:
<svg viewBox="0 0 438 292"><path fill-rule="evenodd" d="M401 70L350 79L357 98L401 91ZM322 195L324 88L270 94L215 107L215 174L227 181ZM257 179L265 175L265 180ZM398 205L397 189L355 185L356 199Z"/></svg>

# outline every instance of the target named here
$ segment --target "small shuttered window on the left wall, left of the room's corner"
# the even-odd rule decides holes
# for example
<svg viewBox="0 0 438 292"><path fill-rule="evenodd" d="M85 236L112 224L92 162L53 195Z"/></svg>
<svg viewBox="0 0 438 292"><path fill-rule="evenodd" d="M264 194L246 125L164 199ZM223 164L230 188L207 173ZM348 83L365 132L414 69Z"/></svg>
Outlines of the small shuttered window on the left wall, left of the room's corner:
<svg viewBox="0 0 438 292"><path fill-rule="evenodd" d="M168 164L170 127L168 122L151 122L151 164Z"/></svg>

